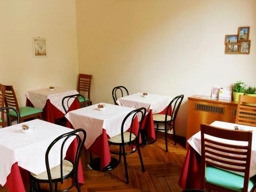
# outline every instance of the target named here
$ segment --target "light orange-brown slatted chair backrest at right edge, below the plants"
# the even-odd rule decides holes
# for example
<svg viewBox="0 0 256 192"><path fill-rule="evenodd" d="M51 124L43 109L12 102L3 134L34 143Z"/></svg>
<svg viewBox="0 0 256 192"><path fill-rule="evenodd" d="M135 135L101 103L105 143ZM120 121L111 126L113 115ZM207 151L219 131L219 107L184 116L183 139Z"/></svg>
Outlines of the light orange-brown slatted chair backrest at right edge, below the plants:
<svg viewBox="0 0 256 192"><path fill-rule="evenodd" d="M236 123L256 126L256 97L239 96Z"/></svg>

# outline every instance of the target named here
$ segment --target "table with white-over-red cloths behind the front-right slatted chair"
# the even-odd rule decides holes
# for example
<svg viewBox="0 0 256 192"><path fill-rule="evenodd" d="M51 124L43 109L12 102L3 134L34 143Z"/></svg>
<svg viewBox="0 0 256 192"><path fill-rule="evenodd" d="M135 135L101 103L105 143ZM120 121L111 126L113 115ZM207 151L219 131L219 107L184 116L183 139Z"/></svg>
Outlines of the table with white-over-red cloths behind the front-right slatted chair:
<svg viewBox="0 0 256 192"><path fill-rule="evenodd" d="M256 176L256 127L242 124L234 124L223 121L214 121L211 126L220 127L223 129L234 130L235 126L245 131L252 131L252 146L251 146L251 163L250 163L250 178ZM231 140L224 140L221 138L211 137L205 135L205 138L210 137L211 140L237 144L239 143ZM179 185L182 189L200 189L201 187L201 132L196 133L187 140L189 146L185 157L184 165L181 171Z"/></svg>

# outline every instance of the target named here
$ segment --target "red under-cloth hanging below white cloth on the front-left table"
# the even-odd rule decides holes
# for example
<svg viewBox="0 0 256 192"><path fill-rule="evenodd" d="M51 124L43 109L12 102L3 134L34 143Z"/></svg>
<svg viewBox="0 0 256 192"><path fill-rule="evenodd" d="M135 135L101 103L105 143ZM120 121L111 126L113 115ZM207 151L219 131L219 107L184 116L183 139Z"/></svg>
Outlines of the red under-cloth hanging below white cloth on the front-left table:
<svg viewBox="0 0 256 192"><path fill-rule="evenodd" d="M67 160L74 162L76 153L77 140L75 139L69 146L66 158ZM83 184L83 170L81 160L78 165L78 182ZM11 168L11 173L7 177L5 187L9 192L26 192L25 188L29 185L29 172L22 167L18 166L18 163L14 163Z"/></svg>

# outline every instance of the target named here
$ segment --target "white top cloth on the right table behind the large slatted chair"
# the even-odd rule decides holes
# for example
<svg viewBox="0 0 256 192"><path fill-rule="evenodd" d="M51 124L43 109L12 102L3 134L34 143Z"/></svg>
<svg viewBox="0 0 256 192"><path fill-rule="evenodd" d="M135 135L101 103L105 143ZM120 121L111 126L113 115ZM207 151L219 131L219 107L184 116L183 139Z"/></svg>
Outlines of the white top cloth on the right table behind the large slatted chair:
<svg viewBox="0 0 256 192"><path fill-rule="evenodd" d="M233 124L233 123L227 123L222 121L215 121L211 123L210 125L220 127L223 129L230 129L234 130L234 126L238 125L239 127L242 127L245 131L253 131L252 132L252 146L251 146L251 165L250 165L250 177L256 175L256 127L254 126L246 126L241 124ZM229 144L237 144L237 145L246 145L246 142L238 142L238 141L230 141L226 139L220 139L216 137L211 137L208 135L205 135L205 138L216 140L223 143L229 143ZM197 134L193 135L191 138L187 140L187 142L193 147L200 155L201 155L201 132L198 132Z"/></svg>

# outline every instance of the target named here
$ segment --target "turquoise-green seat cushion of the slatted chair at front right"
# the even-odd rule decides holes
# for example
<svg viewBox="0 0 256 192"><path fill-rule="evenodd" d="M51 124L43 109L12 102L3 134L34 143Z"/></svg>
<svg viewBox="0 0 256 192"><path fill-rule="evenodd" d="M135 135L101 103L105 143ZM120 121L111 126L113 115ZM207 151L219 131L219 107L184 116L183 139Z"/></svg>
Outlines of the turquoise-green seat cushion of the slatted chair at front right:
<svg viewBox="0 0 256 192"><path fill-rule="evenodd" d="M205 182L228 188L234 191L242 191L244 186L244 177L227 170L207 165ZM256 182L256 177L249 181L248 191L250 191Z"/></svg>

